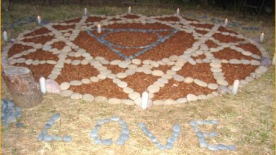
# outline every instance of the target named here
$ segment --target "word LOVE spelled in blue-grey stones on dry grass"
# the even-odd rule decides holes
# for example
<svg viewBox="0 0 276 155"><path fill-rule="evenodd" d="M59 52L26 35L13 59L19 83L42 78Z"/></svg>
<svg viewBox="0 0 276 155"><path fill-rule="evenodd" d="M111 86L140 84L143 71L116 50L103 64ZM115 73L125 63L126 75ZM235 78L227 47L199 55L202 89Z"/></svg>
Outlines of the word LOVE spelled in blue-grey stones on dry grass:
<svg viewBox="0 0 276 155"><path fill-rule="evenodd" d="M50 141L65 141L65 142L72 141L71 136L63 136L62 137L62 136L58 136L58 135L56 135L56 136L48 135L48 130L52 127L52 125L54 125L55 121L57 121L59 119L59 116L60 116L60 114L55 114L54 116L52 116L50 118L48 123L46 123L46 125L44 126L43 132L41 132L41 134L39 134L39 137L38 137L39 141L48 141L48 142L50 142ZM119 125L121 125L121 135L115 141L115 143L117 145L124 145L126 143L126 141L128 141L130 139L130 130L128 129L128 125L126 124L126 122L121 120L121 118L119 118L118 116L112 116L111 118L98 119L97 124L90 132L89 137L97 145L107 145L107 146L112 145L113 141L111 138L102 139L102 138L100 138L100 136L98 134L98 131L101 128L101 126L105 125L106 123L109 123L110 121L115 121L115 122L119 123ZM219 124L219 121L215 121L215 120L213 120L213 121L212 120L190 121L190 125L193 126L193 129L197 133L197 138L199 140L200 147L206 147L212 151L227 150L227 149L235 150L236 147L234 145L224 145L224 144L210 145L210 144L208 144L208 142L206 141L206 138L210 138L211 136L219 136L219 134L217 132L210 132L210 133L201 132L198 127L199 125L218 125L218 124ZM179 123L175 123L175 125L173 125L173 127L172 127L172 135L168 138L166 144L162 145L161 143L159 143L158 138L154 134L152 134L152 132L150 132L148 130L148 127L146 127L145 123L138 123L138 126L141 128L141 131L150 139L150 141L158 149L161 149L161 150L172 149L177 141L178 136L180 135L180 130L181 130Z"/></svg>

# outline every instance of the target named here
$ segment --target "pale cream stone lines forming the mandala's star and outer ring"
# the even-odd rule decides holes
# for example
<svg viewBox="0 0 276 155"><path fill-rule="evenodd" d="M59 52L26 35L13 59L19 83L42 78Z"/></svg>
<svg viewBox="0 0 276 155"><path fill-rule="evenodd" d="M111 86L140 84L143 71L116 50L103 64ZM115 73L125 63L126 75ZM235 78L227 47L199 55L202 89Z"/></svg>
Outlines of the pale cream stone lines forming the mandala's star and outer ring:
<svg viewBox="0 0 276 155"><path fill-rule="evenodd" d="M171 70L167 70L166 74L161 75L161 72L159 72L158 70L155 71L151 71L150 69L146 68L145 70L143 68L139 68L137 69L137 71L135 72L144 72L145 74L152 74L154 76L160 76L160 78L158 79L158 81L155 81L155 83L153 85L157 85L157 87L163 87L166 83L168 83L168 79L174 78L174 79L181 79L181 81L186 81L186 83L195 83L199 86L204 86L204 87L208 87L209 89L213 89L213 90L217 90L217 87L219 87L219 85L224 85L224 86L228 86L228 89L232 90L233 85L228 85L227 81L222 80L219 83L206 83L204 81L201 81L199 79L193 79L191 77L186 77L184 78L183 76L179 76L176 74L176 72L178 70L181 70L181 67L184 65L184 63L190 63L192 65L195 65L197 63L198 60L193 60L190 58L190 56L193 54L202 54L205 53L204 51L206 50L210 50L210 52L208 53L208 56L212 57L211 52L218 52L219 50L223 50L224 48L231 48L233 50L236 50L237 52L241 52L244 55L250 55L255 59L261 59L261 56L252 54L249 51L243 50L242 48L237 48L235 45L239 45L239 43L220 43L218 40L214 39L213 37L211 37L213 34L215 33L220 33L222 35L225 36L232 36L232 37L237 37L239 39L245 39L245 41L243 41L244 43L252 43L253 45L256 45L256 47L259 49L260 52L262 52L262 56L266 56L268 57L268 54L266 52L266 50L262 47L262 45L259 45L258 43L255 43L253 40L251 39L246 39L242 34L233 34L233 33L229 33L229 32L220 32L218 30L210 30L208 28L196 28L195 26L191 26L189 25L190 23L199 23L199 24L212 24L214 25L212 29L214 28L219 28L219 26L221 25L217 25L215 23L210 23L210 22L205 22L205 21L186 21L186 19L184 19L181 16L178 16L177 14L174 14L173 16L178 17L180 21L174 22L174 21L158 21L158 18L164 18L164 17L172 17L172 15L162 15L162 16L155 16L155 17L146 17L143 16L141 14L135 14L137 16L139 16L139 19L126 19L124 18L124 16L126 16L128 14L121 14L121 15L117 15L117 16L106 16L106 15L101 15L101 16L95 16L95 15L90 15L90 17L102 17L102 18L106 18L103 19L100 22L88 22L88 25L82 25L83 23L85 23L86 19L88 17L81 17L81 20L78 23L49 23L47 25L43 25L43 27L48 28L48 30L50 30L51 32L49 32L48 34L39 34L36 35L35 37L38 36L57 36L55 39L52 39L52 41L48 41L46 42L44 45L42 45L41 43L24 43L22 40L23 39L31 39L33 37L23 37L23 35L28 34L30 32L33 32L34 30L38 30L42 27L37 27L34 28L34 30L27 30L21 34L19 34L19 36L17 37L17 39L14 41L14 43L21 43L22 45L28 45L28 46L32 46L33 48L30 50L25 50L21 53L18 54L14 54L13 56L11 56L10 58L8 58L8 51L10 50L10 48L12 47L13 43L8 43L6 45L6 47L3 47L3 51L2 51L2 57L1 57L1 65L3 68L7 68L10 65L13 65L14 63L26 63L27 65L39 65L39 64L51 64L51 65L55 65L55 67L52 69L51 74L48 76L48 79L53 79L55 80L57 78L57 76L59 76L61 69L63 68L63 65L65 63L68 64L72 64L72 65L86 65L88 63L90 63L96 70L98 70L100 73L96 76L92 76L90 77L90 79L82 79L81 81L70 81L70 83L61 83L61 95L62 96L70 96L71 99L84 99L86 101L98 101L98 102L108 102L110 104L119 104L119 103L124 103L126 105L139 105L141 106L141 94L139 94L138 92L133 92L133 90L130 87L126 87L127 83L124 81L121 81L120 78L123 78L125 76L127 76L128 74L132 74L133 71L130 68L135 68L135 65L139 65L139 64L144 64L144 66L148 67L148 66L156 66L156 65L171 65L172 68ZM119 21L108 21L112 18L121 18L121 20ZM61 21L62 22L62 21ZM200 43L200 42L195 42L193 43L193 47L192 48L188 48L186 51L184 51L184 54L181 56L169 56L169 58L164 58L160 61L150 61L150 60L144 60L143 62L141 62L141 60L139 59L132 59L131 61L120 61L120 60L113 60L113 61L107 61L104 57L101 56L96 56L95 58L93 58L89 53L86 53L86 50L79 48L77 45L75 45L74 43L72 43L71 41L74 41L79 32L80 31L85 31L86 28L95 28L97 26L97 23L102 23L102 25L109 25L109 24L114 24L114 23L142 23L142 24L146 24L146 23L161 23L164 25L169 25L172 28L177 28L179 30L188 32L188 33L192 33L193 32L193 37L194 39L198 39L199 41L203 41L205 43L205 41L207 41L208 39L212 40L213 42L217 43L219 46L217 48L208 48L206 47L205 44ZM179 23L182 23L183 25L180 25ZM55 28L52 28L52 25L76 25L75 29L68 29L68 30L55 30ZM188 26L187 26L188 25ZM68 33L69 30L72 30L72 34ZM205 37L203 37L202 34L198 34L195 32L195 30L206 30L208 31L208 34L204 34ZM62 32L64 34L62 34ZM210 33L211 32L211 33ZM66 38L68 37L68 38ZM62 50L57 50L55 48L52 48L49 50L49 48L51 48L50 45L52 45L52 43L55 43L57 41L64 41L66 43L66 46L63 47ZM30 54L31 52L36 52L37 49L42 49L42 50L48 50L49 52L52 52L52 54L59 54L58 57L59 59L63 59L63 61L52 61L52 60L47 60L47 61L39 61L39 60L35 60L33 61L32 59L28 59L25 60L24 58L19 58L22 55L26 55L26 54ZM76 50L77 52L70 52L71 50ZM79 60L75 60L72 61L70 59L66 60L66 57L68 56L83 56L85 57L85 59L83 59L83 61L79 61ZM199 60L200 61L200 60ZM201 60L204 61L204 60ZM210 59L209 59L210 61ZM207 60L205 60L204 62L208 62ZM210 62L208 62L210 63ZM219 72L221 72L221 68L220 68L220 63L232 63L232 64L251 64L251 65L260 65L259 61L256 60L244 60L244 61L240 61L237 59L231 59L230 61L227 61L225 59L222 59L221 61L217 62L217 61L213 61L212 63L210 63L210 69L211 72L213 72L213 74L217 74L217 76L221 76L219 74ZM110 70L104 70L104 66L103 65L119 65L120 68L128 68L129 70L127 70L124 73L119 73L119 74L110 74ZM101 70L100 70L101 69ZM142 70L143 69L143 70ZM246 83L253 81L253 79L258 78L259 76L261 76L262 74L264 74L264 72L266 72L266 68L264 66L259 66L255 72L251 72L250 76L247 76L246 79L243 79L240 81L240 85L239 87L243 87ZM134 73L135 73L134 72ZM218 73L215 73L218 72ZM126 74L127 73L127 74ZM224 77L224 76L221 76ZM97 82L99 80L102 79L112 79L113 83L117 84L119 87L124 87L124 92L126 94L128 94L129 99L117 99L117 98L110 98L107 99L105 96L93 96L92 94L79 94L79 93L75 93L72 92L71 90L68 90L68 88L70 87L70 85L81 85L81 84L86 84L86 83L90 83L90 82ZM153 87L152 85L148 86L148 90L150 90L150 99L152 99L152 92L159 92L157 90L156 87ZM153 105L173 105L173 104L177 104L177 103L186 103L188 101L197 101L197 100L201 100L201 99L210 99L214 96L218 96L219 93L218 92L212 92L212 94L200 94L198 96L194 95L194 94L188 94L187 96L183 96L183 97L179 97L179 99L177 100L172 100L172 99L166 99L166 100L156 100L156 101L152 101Z"/></svg>

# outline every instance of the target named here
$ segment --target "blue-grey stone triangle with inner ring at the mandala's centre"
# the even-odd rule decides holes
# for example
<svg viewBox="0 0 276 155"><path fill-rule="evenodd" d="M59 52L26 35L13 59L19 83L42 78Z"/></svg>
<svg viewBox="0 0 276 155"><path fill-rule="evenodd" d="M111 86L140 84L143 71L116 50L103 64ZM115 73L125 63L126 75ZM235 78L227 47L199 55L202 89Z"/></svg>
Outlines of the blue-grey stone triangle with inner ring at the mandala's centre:
<svg viewBox="0 0 276 155"><path fill-rule="evenodd" d="M107 31L106 34L103 34L101 37L98 37L95 34L92 34L92 30L95 29L87 29L86 32L88 32L88 34L92 37L94 37L95 39L97 39L97 41L99 41L99 43L108 46L108 48L110 48L110 50L112 50L113 52L115 52L117 55L121 56L121 58L125 59L125 60L130 60L130 59L134 59L137 56L144 54L145 52L147 52L148 50L154 48L155 46L164 43L167 39L169 39L170 37L172 37L173 34L175 34L176 32L178 32L179 30L174 29L174 30L167 30L167 29L158 29L158 30L144 30L144 29L108 29L108 28L103 28L102 31ZM145 45L145 46L122 46L122 45L115 45L114 43L110 43L110 41L106 40L105 37L108 34L114 33L114 32L144 32L144 33L154 33L157 35L158 40L150 43L149 45ZM170 32L170 34L166 35L165 37L162 37L159 32ZM119 49L141 49L138 52L136 52L135 54L132 54L130 56L126 56L123 52L120 52L119 50L115 49L115 48L119 48Z"/></svg>

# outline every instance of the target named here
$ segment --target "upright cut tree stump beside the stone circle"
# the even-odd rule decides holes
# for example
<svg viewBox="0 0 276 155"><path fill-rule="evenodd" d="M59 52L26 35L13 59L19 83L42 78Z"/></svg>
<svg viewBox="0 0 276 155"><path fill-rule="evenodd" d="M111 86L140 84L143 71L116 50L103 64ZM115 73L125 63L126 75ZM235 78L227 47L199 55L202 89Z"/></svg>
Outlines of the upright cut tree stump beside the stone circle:
<svg viewBox="0 0 276 155"><path fill-rule="evenodd" d="M33 107L41 103L43 94L28 68L12 66L3 70L2 76L15 105Z"/></svg>

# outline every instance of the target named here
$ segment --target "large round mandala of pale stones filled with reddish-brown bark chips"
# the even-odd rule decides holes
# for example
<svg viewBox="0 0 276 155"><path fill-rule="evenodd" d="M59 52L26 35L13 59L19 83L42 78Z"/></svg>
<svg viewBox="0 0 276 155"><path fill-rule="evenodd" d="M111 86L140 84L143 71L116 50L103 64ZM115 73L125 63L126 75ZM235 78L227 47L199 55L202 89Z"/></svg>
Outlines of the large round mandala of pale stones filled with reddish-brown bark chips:
<svg viewBox="0 0 276 155"><path fill-rule="evenodd" d="M259 66L264 54L261 45L221 25L122 14L23 32L3 56L8 65L30 68L36 81L54 79L72 99L141 105L148 91L160 105L217 96L236 79L244 85L266 71Z"/></svg>

